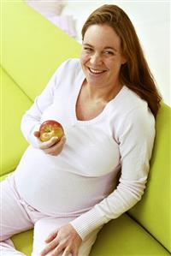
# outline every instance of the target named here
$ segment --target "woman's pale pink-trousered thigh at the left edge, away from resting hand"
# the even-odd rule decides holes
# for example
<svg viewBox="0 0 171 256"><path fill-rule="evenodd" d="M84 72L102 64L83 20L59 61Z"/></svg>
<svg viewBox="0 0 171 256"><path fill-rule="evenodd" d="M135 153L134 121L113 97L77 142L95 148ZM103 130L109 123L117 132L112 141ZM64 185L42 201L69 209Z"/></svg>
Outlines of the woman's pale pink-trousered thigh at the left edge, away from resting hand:
<svg viewBox="0 0 171 256"><path fill-rule="evenodd" d="M21 205L20 196L15 189L13 176L0 182L0 213L0 241L32 228L32 221Z"/></svg>

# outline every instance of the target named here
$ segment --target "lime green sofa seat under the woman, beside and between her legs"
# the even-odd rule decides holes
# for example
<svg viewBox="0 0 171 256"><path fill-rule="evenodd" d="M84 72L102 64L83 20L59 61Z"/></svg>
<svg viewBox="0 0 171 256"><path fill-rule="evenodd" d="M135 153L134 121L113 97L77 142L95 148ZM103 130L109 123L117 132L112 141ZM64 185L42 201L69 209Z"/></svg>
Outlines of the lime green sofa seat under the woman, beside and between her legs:
<svg viewBox="0 0 171 256"><path fill-rule="evenodd" d="M13 236L15 247L31 255L32 230ZM140 256L170 255L149 233L141 228L127 214L104 225L97 235L97 241L90 256ZM82 256L82 255L81 255Z"/></svg>

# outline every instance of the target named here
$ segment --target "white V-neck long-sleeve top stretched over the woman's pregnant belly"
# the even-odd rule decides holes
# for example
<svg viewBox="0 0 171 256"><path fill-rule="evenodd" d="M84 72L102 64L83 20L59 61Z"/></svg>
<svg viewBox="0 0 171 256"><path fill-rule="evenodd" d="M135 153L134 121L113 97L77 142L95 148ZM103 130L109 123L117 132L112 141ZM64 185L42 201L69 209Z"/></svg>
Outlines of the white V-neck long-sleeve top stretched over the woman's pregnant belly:
<svg viewBox="0 0 171 256"><path fill-rule="evenodd" d="M141 199L155 138L154 116L127 86L97 117L78 120L75 106L84 80L78 59L57 68L22 118L30 146L15 170L21 197L45 214L74 217L71 224L82 239ZM50 119L62 123L67 138L58 156L38 149L33 136Z"/></svg>

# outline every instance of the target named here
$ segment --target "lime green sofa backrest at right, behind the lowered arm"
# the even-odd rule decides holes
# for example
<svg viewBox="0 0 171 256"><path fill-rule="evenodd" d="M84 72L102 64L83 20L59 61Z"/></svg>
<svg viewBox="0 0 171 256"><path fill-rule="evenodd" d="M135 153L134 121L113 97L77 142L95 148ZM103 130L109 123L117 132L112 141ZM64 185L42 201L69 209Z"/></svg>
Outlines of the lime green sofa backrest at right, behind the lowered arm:
<svg viewBox="0 0 171 256"><path fill-rule="evenodd" d="M129 214L150 230L171 253L171 109L162 104L156 117L156 140L144 197Z"/></svg>

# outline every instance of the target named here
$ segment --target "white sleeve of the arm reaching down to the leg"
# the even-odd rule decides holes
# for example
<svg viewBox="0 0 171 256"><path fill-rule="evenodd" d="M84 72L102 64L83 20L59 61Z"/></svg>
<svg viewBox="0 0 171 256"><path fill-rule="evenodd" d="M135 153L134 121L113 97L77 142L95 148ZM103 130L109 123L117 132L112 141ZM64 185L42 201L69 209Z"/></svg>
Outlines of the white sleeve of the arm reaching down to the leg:
<svg viewBox="0 0 171 256"><path fill-rule="evenodd" d="M150 110L139 108L127 115L119 135L121 177L117 188L90 211L70 222L83 240L91 231L121 216L141 199L154 138L155 119Z"/></svg>

